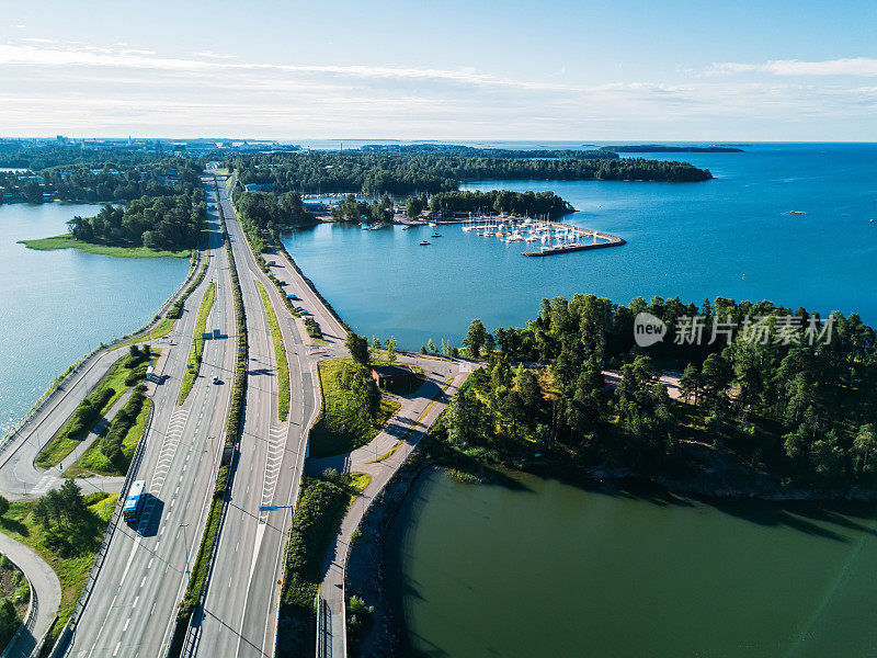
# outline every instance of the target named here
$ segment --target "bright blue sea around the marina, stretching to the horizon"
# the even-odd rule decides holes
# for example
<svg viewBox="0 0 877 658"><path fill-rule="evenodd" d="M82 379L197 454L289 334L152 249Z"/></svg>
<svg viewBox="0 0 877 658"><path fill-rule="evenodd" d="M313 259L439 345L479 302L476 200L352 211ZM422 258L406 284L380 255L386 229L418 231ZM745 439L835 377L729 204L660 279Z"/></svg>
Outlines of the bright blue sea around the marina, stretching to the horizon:
<svg viewBox="0 0 877 658"><path fill-rule="evenodd" d="M740 146L744 152L641 156L705 167L716 179L704 183L464 185L550 190L577 208L567 222L620 236L624 247L528 259L522 245L458 226L442 227L429 247L418 245L428 227L334 225L296 231L284 243L356 331L395 336L409 349L430 338L458 344L476 317L491 329L521 326L544 297L574 293L620 303L653 295L698 304L771 299L877 324L877 145Z"/></svg>

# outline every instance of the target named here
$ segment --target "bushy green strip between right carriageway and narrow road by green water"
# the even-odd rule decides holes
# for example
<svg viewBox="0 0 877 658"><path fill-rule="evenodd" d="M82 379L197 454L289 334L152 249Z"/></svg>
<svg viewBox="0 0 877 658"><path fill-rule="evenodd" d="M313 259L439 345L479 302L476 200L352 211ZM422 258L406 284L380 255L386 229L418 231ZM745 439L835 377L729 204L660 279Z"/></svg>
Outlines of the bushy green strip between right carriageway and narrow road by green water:
<svg viewBox="0 0 877 658"><path fill-rule="evenodd" d="M286 544L278 655L314 655L314 633L304 631L312 628L326 554L342 519L371 481L364 473L303 478Z"/></svg>

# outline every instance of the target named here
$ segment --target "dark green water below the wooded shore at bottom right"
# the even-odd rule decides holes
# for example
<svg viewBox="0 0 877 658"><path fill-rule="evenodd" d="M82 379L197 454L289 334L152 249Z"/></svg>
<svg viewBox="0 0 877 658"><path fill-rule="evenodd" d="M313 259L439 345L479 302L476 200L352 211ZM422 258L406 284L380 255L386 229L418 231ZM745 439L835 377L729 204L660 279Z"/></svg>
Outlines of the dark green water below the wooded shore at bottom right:
<svg viewBox="0 0 877 658"><path fill-rule="evenodd" d="M877 655L866 510L515 484L412 488L388 542L411 655Z"/></svg>

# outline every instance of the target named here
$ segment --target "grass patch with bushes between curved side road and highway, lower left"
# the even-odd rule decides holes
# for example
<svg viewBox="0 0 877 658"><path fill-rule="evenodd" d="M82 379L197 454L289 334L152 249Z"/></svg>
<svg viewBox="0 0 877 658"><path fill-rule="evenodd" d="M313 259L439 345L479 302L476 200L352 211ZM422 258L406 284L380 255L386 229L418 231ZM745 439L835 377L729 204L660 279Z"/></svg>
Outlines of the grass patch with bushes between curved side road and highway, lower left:
<svg viewBox="0 0 877 658"><path fill-rule="evenodd" d="M9 511L0 517L0 531L33 548L60 580L61 604L58 608L58 622L53 627L55 635L67 623L82 593L117 498L116 495L107 496L104 504L100 492L89 496L88 499L94 501L89 507L89 517L81 524L66 529L67 541L61 545L47 541L46 532L32 518L35 500L13 502Z"/></svg>

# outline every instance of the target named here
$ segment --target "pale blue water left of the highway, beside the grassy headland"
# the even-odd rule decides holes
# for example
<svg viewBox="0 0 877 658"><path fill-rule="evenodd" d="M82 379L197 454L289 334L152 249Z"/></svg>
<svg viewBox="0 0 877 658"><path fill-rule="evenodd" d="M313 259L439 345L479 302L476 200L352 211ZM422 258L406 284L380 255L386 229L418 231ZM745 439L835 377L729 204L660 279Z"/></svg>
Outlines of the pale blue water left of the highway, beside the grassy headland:
<svg viewBox="0 0 877 658"><path fill-rule="evenodd" d="M16 240L67 231L95 205L0 206L0 434L72 362L143 326L180 285L186 259L128 260Z"/></svg>

